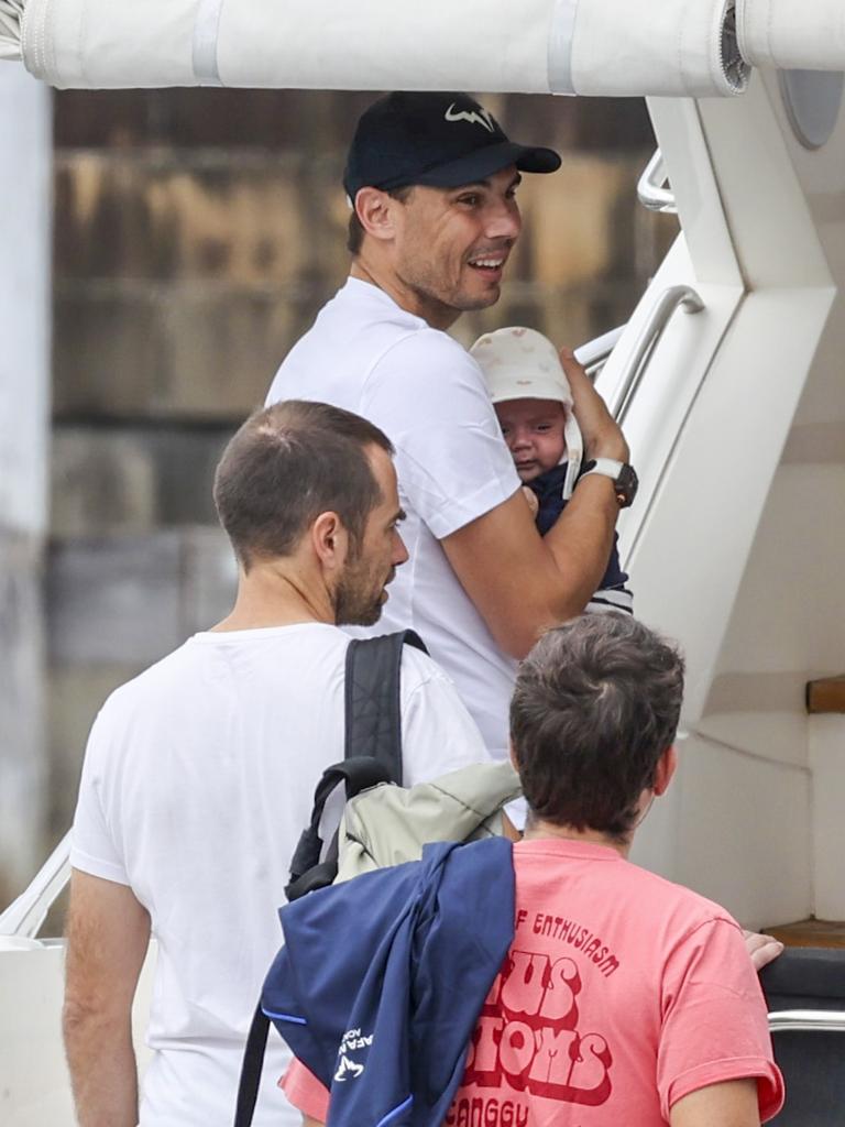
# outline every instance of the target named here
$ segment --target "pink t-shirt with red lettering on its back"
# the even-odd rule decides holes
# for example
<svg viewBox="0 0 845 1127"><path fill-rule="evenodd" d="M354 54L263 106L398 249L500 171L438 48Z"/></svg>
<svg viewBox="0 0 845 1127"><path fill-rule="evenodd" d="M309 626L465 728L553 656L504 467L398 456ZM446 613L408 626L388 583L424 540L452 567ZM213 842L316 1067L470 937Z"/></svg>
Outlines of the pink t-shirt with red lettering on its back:
<svg viewBox="0 0 845 1127"><path fill-rule="evenodd" d="M661 1127L682 1097L742 1077L776 1115L765 1002L727 912L588 842L519 842L514 868L514 942L446 1127ZM326 1120L303 1065L282 1083Z"/></svg>

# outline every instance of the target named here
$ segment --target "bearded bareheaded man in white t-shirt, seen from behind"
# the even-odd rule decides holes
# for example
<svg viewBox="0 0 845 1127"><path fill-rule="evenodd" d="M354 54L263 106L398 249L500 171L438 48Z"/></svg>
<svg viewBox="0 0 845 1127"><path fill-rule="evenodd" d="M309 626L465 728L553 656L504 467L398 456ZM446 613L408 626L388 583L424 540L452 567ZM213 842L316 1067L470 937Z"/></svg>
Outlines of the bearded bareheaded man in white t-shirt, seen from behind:
<svg viewBox="0 0 845 1127"><path fill-rule="evenodd" d="M214 496L239 562L232 612L118 689L88 744L73 826L64 1036L81 1127L231 1122L291 857L344 757L348 637L375 622L399 533L392 446L288 401L228 445ZM487 757L448 678L404 646L402 781ZM131 1010L150 935L152 1061L139 1108ZM274 1047L268 1072L284 1071ZM299 1121L275 1083L257 1124Z"/></svg>

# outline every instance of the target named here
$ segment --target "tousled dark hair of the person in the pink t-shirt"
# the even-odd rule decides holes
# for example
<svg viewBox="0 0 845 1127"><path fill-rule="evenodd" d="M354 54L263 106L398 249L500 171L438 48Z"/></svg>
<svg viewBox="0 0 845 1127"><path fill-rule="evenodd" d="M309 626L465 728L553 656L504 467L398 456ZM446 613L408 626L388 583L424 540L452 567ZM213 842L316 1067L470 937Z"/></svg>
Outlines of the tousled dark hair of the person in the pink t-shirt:
<svg viewBox="0 0 845 1127"><path fill-rule="evenodd" d="M678 649L626 614L585 614L523 662L510 736L534 817L625 841L671 745L684 693Z"/></svg>

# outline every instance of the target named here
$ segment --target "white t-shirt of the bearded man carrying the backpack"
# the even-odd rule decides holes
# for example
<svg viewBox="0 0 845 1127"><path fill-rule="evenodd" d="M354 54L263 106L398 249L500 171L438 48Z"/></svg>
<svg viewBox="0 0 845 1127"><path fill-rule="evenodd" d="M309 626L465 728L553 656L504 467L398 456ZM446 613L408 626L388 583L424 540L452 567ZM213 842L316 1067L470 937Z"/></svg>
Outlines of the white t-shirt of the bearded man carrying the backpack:
<svg viewBox="0 0 845 1127"><path fill-rule="evenodd" d="M348 642L322 623L198 633L94 725L71 864L130 885L158 940L142 1127L232 1121L291 855L344 755ZM407 786L487 758L454 685L408 646L401 715ZM286 1065L272 1031L256 1127L299 1127Z"/></svg>

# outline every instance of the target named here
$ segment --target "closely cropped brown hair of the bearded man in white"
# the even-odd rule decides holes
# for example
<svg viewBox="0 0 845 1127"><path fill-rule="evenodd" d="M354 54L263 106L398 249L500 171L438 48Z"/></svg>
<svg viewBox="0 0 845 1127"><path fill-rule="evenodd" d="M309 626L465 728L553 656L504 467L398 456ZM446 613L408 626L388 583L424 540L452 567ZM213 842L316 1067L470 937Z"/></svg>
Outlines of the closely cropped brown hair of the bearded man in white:
<svg viewBox="0 0 845 1127"><path fill-rule="evenodd" d="M379 427L328 403L287 399L247 419L214 476L220 523L244 571L290 556L321 513L337 513L359 545L382 500L367 446L393 453Z"/></svg>

